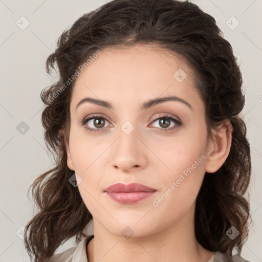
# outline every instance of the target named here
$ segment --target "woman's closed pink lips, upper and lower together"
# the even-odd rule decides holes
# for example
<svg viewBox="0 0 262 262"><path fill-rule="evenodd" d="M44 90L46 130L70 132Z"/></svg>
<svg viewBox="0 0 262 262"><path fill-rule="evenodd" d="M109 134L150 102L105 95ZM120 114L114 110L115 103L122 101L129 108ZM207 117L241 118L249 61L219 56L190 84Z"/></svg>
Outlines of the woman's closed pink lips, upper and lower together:
<svg viewBox="0 0 262 262"><path fill-rule="evenodd" d="M136 204L156 193L156 189L148 186L130 183L116 183L104 189L108 197L121 204Z"/></svg>

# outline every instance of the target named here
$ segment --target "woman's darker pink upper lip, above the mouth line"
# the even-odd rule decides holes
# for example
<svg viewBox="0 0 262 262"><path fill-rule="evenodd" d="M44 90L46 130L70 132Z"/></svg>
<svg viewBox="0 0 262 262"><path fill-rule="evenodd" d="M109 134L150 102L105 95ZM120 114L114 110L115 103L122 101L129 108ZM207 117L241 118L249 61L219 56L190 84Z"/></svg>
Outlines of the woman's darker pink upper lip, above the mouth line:
<svg viewBox="0 0 262 262"><path fill-rule="evenodd" d="M116 183L111 186L108 186L104 189L106 192L152 192L157 191L154 188L150 188L148 186L138 184L138 183L130 183L128 185L122 183Z"/></svg>

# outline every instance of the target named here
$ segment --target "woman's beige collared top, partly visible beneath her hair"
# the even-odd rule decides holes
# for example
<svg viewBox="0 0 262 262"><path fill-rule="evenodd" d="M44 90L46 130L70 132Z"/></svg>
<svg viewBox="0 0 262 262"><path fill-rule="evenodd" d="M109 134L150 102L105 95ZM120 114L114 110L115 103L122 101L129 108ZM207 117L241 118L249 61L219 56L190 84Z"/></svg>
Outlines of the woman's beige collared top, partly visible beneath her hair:
<svg viewBox="0 0 262 262"><path fill-rule="evenodd" d="M61 253L54 254L49 262L88 262L86 255L86 247L94 235L89 235L83 238L77 246L69 248ZM216 251L207 261L205 262L225 262L226 257L223 253ZM232 262L250 262L245 260L241 256L233 255Z"/></svg>

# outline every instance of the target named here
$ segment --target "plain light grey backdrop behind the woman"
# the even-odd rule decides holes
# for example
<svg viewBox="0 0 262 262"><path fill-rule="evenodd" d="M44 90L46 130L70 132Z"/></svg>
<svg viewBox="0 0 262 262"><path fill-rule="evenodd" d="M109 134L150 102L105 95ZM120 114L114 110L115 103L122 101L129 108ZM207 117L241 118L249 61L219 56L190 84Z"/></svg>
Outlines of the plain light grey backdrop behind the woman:
<svg viewBox="0 0 262 262"><path fill-rule="evenodd" d="M29 261L24 242L19 238L19 232L36 212L27 191L39 174L53 166L51 155L50 158L47 155L40 119L43 109L40 92L57 79L55 75L53 78L47 75L46 59L55 50L56 41L65 28L83 13L104 3L105 0L0 0L0 262ZM215 17L241 63L246 90L243 115L252 151L249 194L254 221L242 256L252 262L262 261L262 1L195 0L192 3ZM26 20L21 16L30 22L24 30L20 27L22 23L26 25ZM234 30L237 20L231 16L240 23ZM29 126L24 134L17 130L22 121ZM92 232L92 225L90 230ZM70 239L57 252L73 245Z"/></svg>

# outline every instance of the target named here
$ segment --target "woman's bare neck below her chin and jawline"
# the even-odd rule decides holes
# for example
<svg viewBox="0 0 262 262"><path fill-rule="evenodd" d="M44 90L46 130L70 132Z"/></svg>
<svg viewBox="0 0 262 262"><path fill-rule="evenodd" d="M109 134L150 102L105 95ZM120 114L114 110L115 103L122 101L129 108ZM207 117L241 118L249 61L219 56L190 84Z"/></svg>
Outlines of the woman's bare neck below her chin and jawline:
<svg viewBox="0 0 262 262"><path fill-rule="evenodd" d="M117 257L121 262L205 262L214 252L204 249L195 238L193 210L191 215L187 213L187 217L162 231L142 237L134 234L128 239L109 232L94 219L94 238L88 245L88 261L111 262Z"/></svg>

